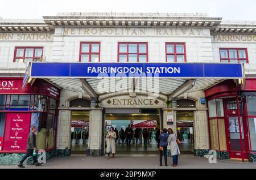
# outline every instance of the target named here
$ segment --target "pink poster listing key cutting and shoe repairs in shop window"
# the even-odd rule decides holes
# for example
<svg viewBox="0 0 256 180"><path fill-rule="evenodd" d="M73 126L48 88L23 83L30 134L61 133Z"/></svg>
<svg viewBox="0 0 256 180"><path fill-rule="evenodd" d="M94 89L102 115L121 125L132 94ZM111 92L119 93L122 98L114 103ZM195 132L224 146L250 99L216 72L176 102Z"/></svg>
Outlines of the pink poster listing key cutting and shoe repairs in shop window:
<svg viewBox="0 0 256 180"><path fill-rule="evenodd" d="M3 151L24 151L27 149L30 118L31 113L6 114Z"/></svg>

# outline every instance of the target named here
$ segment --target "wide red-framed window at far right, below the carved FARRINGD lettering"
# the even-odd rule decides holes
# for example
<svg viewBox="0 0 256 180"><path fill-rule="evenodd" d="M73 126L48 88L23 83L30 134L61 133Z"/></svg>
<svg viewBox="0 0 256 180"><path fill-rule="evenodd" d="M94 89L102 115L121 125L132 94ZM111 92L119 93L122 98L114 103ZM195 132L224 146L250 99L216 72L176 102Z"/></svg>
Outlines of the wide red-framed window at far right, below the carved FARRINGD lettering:
<svg viewBox="0 0 256 180"><path fill-rule="evenodd" d="M249 63L247 49L220 48L222 63Z"/></svg>

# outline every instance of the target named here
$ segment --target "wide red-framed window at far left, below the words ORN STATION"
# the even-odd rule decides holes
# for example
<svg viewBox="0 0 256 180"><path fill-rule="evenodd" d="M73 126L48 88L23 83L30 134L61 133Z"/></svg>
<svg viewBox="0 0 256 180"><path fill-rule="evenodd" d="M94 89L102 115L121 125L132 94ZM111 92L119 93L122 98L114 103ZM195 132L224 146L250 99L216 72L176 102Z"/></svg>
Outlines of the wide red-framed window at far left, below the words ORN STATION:
<svg viewBox="0 0 256 180"><path fill-rule="evenodd" d="M13 62L42 61L43 47L15 47Z"/></svg>

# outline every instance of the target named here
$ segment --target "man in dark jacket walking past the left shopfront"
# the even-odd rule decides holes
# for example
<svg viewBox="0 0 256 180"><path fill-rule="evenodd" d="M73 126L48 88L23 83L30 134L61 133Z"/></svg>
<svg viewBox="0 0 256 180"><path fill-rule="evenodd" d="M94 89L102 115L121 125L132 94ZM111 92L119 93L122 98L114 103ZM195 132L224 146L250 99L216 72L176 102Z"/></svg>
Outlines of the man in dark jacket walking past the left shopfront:
<svg viewBox="0 0 256 180"><path fill-rule="evenodd" d="M33 155L33 151L36 150L36 127L35 126L32 126L31 127L31 131L30 131L30 134L28 134L27 136L27 153L26 155L24 155L24 157L22 158L22 160L20 160L19 162L19 168L25 168L23 166L23 162L31 155ZM36 156L32 156L33 157L33 165L36 165L36 166L40 166L42 164L40 164L38 162L38 159Z"/></svg>

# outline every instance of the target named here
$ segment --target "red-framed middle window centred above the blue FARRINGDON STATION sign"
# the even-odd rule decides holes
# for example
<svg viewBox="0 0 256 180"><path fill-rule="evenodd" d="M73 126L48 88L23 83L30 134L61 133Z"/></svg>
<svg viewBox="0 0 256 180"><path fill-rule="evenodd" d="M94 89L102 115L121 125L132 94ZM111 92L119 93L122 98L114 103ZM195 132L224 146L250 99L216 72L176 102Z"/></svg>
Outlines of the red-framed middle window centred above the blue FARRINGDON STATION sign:
<svg viewBox="0 0 256 180"><path fill-rule="evenodd" d="M118 62L148 62L147 42L118 42Z"/></svg>

